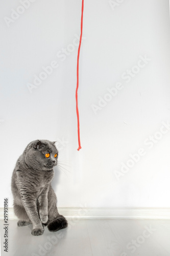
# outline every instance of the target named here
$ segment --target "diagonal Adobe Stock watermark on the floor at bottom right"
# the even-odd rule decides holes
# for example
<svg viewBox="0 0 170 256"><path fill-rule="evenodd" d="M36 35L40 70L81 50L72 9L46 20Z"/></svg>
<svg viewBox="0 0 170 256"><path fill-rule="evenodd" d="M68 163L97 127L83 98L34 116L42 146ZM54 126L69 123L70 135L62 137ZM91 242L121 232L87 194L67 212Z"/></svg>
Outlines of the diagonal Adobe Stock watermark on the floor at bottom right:
<svg viewBox="0 0 170 256"><path fill-rule="evenodd" d="M145 229L140 236L138 236L136 239L131 240L131 242L126 245L126 248L128 250L131 250L131 253L134 253L136 249L139 248L145 242L145 240L150 238L151 234L156 231L156 228L153 228L151 225L144 226L144 228ZM128 256L128 253L122 252L120 256Z"/></svg>

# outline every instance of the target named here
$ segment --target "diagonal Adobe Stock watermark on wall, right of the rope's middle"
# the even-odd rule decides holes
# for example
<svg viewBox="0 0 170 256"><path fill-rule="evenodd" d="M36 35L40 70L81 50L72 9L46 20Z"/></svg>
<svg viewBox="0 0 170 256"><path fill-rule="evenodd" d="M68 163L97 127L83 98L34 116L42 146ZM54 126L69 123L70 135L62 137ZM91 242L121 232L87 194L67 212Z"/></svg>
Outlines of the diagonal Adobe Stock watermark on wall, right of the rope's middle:
<svg viewBox="0 0 170 256"><path fill-rule="evenodd" d="M131 79L140 72L141 69L147 66L149 61L151 61L151 59L148 58L146 54L144 56L140 55L136 65L134 65L131 69L126 70L126 72L121 75L121 78L125 80L126 83L129 83ZM108 102L111 101L123 89L123 82L117 82L114 87L107 88L107 93L103 97L98 97L98 104L91 104L94 114L96 115L98 111L101 111L108 104Z"/></svg>

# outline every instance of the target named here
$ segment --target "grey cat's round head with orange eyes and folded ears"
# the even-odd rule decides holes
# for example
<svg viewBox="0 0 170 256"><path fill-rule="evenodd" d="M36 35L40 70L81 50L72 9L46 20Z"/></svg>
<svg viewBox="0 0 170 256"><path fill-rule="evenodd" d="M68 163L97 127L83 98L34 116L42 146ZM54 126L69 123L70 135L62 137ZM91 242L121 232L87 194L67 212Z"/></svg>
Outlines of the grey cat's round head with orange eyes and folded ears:
<svg viewBox="0 0 170 256"><path fill-rule="evenodd" d="M36 140L26 147L23 156L29 167L39 170L51 170L57 165L58 150L55 142Z"/></svg>

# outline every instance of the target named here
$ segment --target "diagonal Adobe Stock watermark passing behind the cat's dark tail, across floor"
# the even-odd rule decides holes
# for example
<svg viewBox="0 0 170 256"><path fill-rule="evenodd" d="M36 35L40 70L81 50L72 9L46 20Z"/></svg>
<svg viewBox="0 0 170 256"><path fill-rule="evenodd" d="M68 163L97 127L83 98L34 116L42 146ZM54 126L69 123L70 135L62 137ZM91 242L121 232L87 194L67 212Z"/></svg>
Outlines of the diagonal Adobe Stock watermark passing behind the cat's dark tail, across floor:
<svg viewBox="0 0 170 256"><path fill-rule="evenodd" d="M66 229L58 230L54 234L49 234L47 236L47 241L43 245L38 245L37 252L32 252L31 256L46 256L52 254L52 249L60 239L64 238L64 230L70 231L73 226L80 220L81 216L84 216L87 213L86 204L80 205L78 210L78 218L72 217L68 221L68 227Z"/></svg>

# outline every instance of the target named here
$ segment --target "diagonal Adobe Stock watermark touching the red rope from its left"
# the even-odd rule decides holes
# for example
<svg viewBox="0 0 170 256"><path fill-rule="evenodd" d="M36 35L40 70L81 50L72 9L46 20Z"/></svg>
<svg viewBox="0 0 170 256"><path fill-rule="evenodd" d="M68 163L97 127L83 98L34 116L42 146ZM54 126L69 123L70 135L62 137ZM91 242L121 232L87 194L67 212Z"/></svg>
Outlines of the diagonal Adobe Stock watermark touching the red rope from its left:
<svg viewBox="0 0 170 256"><path fill-rule="evenodd" d="M86 39L86 37L82 37L82 40ZM79 40L80 36L75 34L75 38L72 40L72 43L67 45L66 48L62 48L57 52L57 60L52 60L50 62L50 65L48 66L42 66L42 71L38 75L33 75L33 82L27 83L27 88L30 93L33 92L34 89L37 89L40 84L46 80L48 76L50 76L54 70L56 70L59 67L59 61L63 62L66 60L66 58L75 51L76 48L79 46Z"/></svg>

